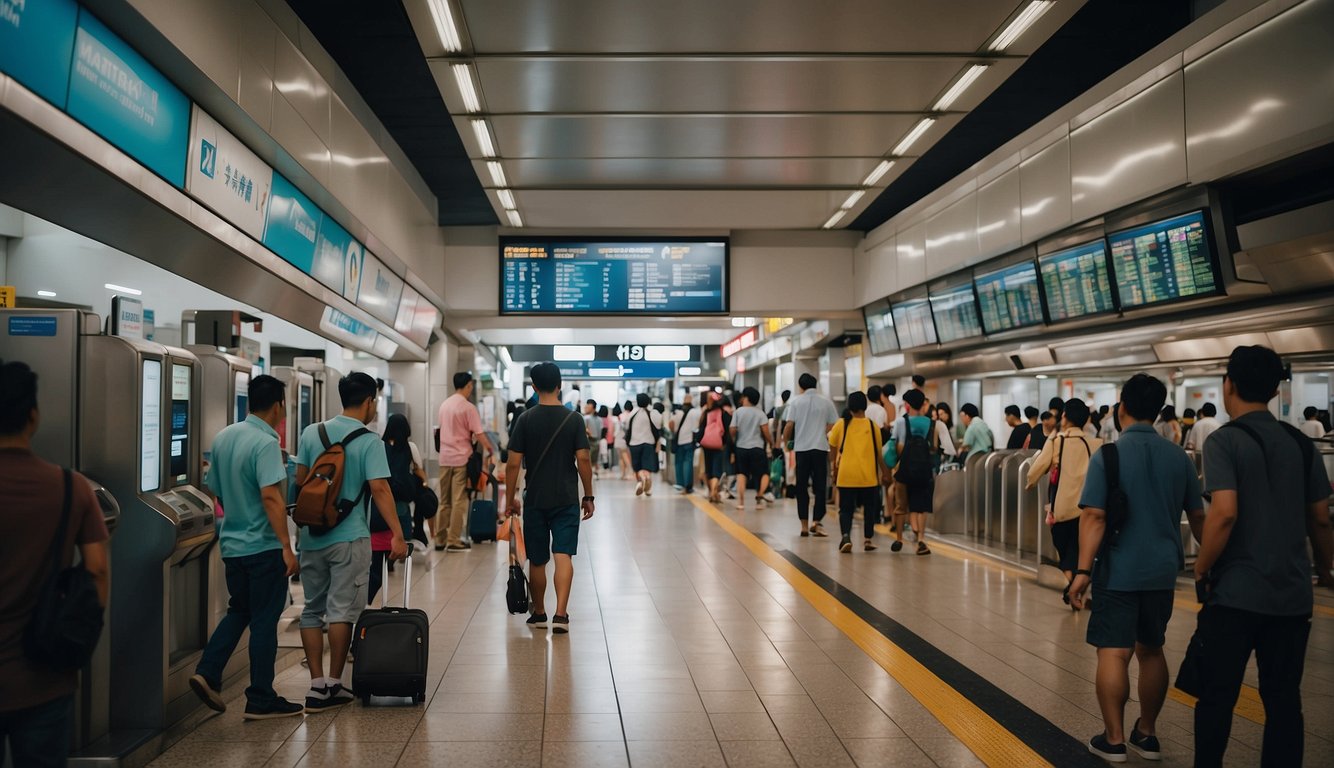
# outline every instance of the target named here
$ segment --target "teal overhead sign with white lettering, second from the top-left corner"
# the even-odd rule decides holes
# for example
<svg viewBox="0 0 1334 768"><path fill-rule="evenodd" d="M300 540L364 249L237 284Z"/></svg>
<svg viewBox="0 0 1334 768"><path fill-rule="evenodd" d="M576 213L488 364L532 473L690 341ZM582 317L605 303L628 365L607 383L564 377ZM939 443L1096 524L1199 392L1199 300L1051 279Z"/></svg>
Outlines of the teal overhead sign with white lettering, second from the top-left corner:
<svg viewBox="0 0 1334 768"><path fill-rule="evenodd" d="M79 13L67 111L184 189L189 99L87 11Z"/></svg>

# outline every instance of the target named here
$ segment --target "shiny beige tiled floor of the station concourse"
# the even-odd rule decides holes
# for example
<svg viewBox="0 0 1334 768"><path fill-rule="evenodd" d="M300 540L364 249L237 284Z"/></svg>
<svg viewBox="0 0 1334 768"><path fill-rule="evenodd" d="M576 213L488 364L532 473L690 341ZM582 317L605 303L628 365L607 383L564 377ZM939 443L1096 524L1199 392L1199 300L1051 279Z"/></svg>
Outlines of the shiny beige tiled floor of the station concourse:
<svg viewBox="0 0 1334 768"><path fill-rule="evenodd" d="M431 553L414 605L432 616L428 701L244 723L244 684L157 767L910 767L980 761L784 577L688 500L603 481L575 560L572 632L504 608L503 551ZM796 536L791 501L724 512L1079 739L1099 731L1085 615L1014 572L947 547L839 555ZM836 527L836 521L832 521ZM400 573L391 588L400 589ZM1326 605L1334 603L1322 597ZM550 605L554 605L554 599ZM1175 668L1194 628L1169 628ZM1254 684L1254 671L1249 677ZM279 677L300 699L303 667ZM1317 617L1303 685L1307 765L1334 765L1334 619ZM1134 701L1130 716L1134 717ZM1163 765L1191 763L1191 709L1169 700ZM1230 765L1258 764L1238 717ZM1022 737L1022 735L1019 735ZM1134 760L1134 759L1133 759Z"/></svg>

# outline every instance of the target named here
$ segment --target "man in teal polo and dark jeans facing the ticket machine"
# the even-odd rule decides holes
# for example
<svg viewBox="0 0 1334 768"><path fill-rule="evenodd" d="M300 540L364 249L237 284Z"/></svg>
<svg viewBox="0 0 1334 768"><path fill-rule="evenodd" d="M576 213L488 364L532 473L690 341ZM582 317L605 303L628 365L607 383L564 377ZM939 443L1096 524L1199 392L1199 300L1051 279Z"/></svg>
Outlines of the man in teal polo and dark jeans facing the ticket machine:
<svg viewBox="0 0 1334 768"><path fill-rule="evenodd" d="M275 432L287 412L283 388L272 376L251 380L249 416L213 437L208 471L208 489L223 507L217 541L231 599L189 687L209 708L225 712L219 692L223 668L248 628L251 684L245 689L245 720L289 717L303 711L273 691L277 620L287 607L287 579L296 573L281 493L287 468Z"/></svg>

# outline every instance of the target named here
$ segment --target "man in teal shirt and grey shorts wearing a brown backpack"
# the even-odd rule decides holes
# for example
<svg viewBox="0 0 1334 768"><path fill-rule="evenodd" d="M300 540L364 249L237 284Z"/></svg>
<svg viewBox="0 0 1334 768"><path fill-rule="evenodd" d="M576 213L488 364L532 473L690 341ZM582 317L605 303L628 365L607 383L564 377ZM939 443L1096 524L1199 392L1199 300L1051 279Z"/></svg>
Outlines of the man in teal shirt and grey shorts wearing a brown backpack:
<svg viewBox="0 0 1334 768"><path fill-rule="evenodd" d="M384 443L366 431L375 423L375 379L350 373L339 380L338 393L343 413L328 421L308 425L300 437L296 455L296 484L305 483L315 460L331 445L342 444L343 485L339 504L350 509L338 525L324 533L301 532L301 585L305 608L301 611L301 645L311 668L311 689L305 693L305 711L323 712L352 701L352 692L343 687L347 653L352 647L352 627L366 608L371 572L370 508L379 512L390 529L390 559L408 556L403 527L399 524L390 489L390 464ZM442 421L442 435L444 432ZM354 436L355 435L355 436ZM440 447L444 447L442 436ZM223 500L225 511L227 500ZM329 667L324 676L324 625L328 624Z"/></svg>

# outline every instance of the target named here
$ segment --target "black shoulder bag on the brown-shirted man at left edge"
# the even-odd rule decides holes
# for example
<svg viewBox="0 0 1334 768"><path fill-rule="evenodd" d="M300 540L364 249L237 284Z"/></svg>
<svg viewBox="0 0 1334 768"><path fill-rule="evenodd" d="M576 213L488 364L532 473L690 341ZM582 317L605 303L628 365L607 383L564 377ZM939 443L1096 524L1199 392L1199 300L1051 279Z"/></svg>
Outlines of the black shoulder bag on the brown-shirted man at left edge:
<svg viewBox="0 0 1334 768"><path fill-rule="evenodd" d="M73 504L73 473L65 469L64 476L65 500L56 539L51 543L51 576L41 587L37 607L23 633L23 649L28 659L39 664L55 669L81 669L97 648L104 611L92 573L83 565L60 567Z"/></svg>

